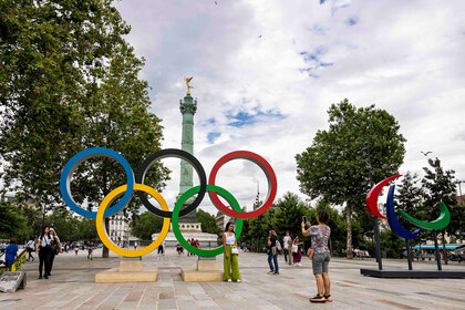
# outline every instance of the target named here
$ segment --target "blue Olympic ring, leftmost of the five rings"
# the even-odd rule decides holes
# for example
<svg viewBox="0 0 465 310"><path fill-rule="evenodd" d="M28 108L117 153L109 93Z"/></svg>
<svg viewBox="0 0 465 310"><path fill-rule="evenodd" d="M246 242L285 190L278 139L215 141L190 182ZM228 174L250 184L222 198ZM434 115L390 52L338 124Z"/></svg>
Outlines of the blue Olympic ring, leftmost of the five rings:
<svg viewBox="0 0 465 310"><path fill-rule="evenodd" d="M127 185L126 193L116 205L105 210L105 214L104 214L105 217L111 216L117 213L118 210L121 210L122 208L124 208L127 205L127 203L130 203L131 197L133 196L133 192L134 192L133 169L131 168L131 165L126 161L126 158L124 158L120 153L111 148L106 148L106 147L92 147L92 148L81 151L80 153L74 155L64 166L63 172L61 173L61 176L60 176L60 192L61 192L61 196L63 197L64 203L73 211L75 211L76 214L83 217L89 217L89 218L96 218L96 211L85 210L81 208L80 206L78 206L78 204L74 202L71 195L70 184L71 184L71 178L73 176L74 169L78 168L78 166L82 162L91 157L96 157L96 156L106 156L106 157L116 159L117 162L120 162L120 164L123 166L124 170L126 172L126 185Z"/></svg>

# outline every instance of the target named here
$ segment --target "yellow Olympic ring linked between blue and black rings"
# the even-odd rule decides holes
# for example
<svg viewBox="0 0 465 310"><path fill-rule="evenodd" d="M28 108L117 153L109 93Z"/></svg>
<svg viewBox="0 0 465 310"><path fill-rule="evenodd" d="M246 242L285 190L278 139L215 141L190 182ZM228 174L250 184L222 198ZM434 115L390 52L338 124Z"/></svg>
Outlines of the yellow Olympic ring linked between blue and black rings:
<svg viewBox="0 0 465 310"><path fill-rule="evenodd" d="M149 246L145 248L142 248L138 250L125 250L125 249L120 248L115 244L113 244L113 241L108 238L108 234L106 232L103 215L105 213L106 207L113 200L113 198L126 192L126 188L127 188L127 185L122 185L113 189L108 195L106 195L106 197L103 199L102 204L99 207L95 223L96 223L96 228L97 228L97 234L99 234L100 239L111 251L117 255L124 256L124 257L140 257L146 254L149 254L162 244L166 235L168 235L169 223L172 219L169 217L165 217L163 219L163 227L162 227L162 231L158 235L158 238L156 238L155 241L153 241ZM163 210L169 211L168 205L166 204L165 199L154 188L144 184L134 184L134 190L142 190L142 192L147 193L148 195L151 195L158 202Z"/></svg>

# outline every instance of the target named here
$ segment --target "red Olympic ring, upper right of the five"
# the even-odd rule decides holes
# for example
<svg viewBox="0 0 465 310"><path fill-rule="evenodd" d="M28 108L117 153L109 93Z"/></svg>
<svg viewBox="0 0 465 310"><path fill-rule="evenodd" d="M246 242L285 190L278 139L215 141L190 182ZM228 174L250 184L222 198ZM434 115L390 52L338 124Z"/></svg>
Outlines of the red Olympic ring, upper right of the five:
<svg viewBox="0 0 465 310"><path fill-rule="evenodd" d="M218 209L224 211L225 214L227 214L229 216L232 216L232 217L236 217L236 218L249 219L249 218L254 218L254 217L257 217L259 215L262 215L266 210L268 210L268 208L275 202L276 192L278 189L278 183L276 180L276 175L275 175L273 169L271 168L270 164L268 164L268 162L265 161L264 157L261 157L260 155L255 154L252 152L248 152L248 151L235 151L235 152L226 154L225 156L219 158L218 162L216 162L216 164L211 168L211 173L210 173L210 176L208 178L208 184L209 185L215 185L215 178L216 178L216 175L217 175L219 168L224 164L226 164L227 162L232 161L232 159L238 159L238 158L248 159L250 162L254 162L255 164L257 164L264 170L265 175L267 176L267 179L268 179L268 198L265 202L265 204L261 207L257 208L255 211L238 213L238 211L235 211L235 210L228 208L227 206L225 206L219 200L219 197L216 193L209 190L208 194L210 195L210 199L214 203L214 205Z"/></svg>

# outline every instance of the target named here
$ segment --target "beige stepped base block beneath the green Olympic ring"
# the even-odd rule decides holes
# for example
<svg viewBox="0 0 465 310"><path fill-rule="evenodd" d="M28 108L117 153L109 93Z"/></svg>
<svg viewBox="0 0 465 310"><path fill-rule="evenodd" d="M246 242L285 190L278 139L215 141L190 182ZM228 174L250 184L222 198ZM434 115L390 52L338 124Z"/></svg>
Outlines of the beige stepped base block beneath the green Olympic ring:
<svg viewBox="0 0 465 310"><path fill-rule="evenodd" d="M224 272L219 269L216 258L199 259L196 268L180 268L180 277L186 282L221 282Z"/></svg>

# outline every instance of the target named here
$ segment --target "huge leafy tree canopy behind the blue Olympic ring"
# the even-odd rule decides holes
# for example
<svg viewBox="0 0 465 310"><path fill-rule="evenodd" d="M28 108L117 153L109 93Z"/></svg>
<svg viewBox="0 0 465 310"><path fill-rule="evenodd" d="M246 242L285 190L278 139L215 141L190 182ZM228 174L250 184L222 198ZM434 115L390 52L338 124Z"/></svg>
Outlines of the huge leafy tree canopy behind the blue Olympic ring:
<svg viewBox="0 0 465 310"><path fill-rule="evenodd" d="M0 2L2 178L44 214L62 204L60 174L75 153L110 147L137 169L161 147L161 120L148 112L148 84L138 78L144 60L124 40L131 28L112 2ZM125 183L122 172L107 158L81 164L74 199L97 206ZM145 183L161 189L167 174L157 163Z"/></svg>

